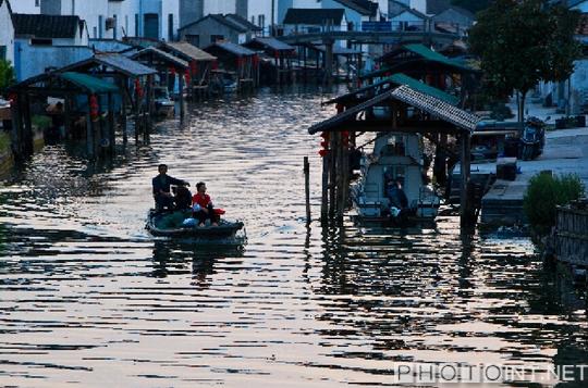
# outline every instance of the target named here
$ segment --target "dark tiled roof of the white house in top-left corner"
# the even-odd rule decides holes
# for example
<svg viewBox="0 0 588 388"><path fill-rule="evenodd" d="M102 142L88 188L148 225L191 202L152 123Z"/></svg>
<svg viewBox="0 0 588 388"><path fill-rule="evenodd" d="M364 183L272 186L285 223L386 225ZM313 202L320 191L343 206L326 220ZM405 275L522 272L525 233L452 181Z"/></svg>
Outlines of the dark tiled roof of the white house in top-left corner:
<svg viewBox="0 0 588 388"><path fill-rule="evenodd" d="M83 21L79 16L12 14L14 34L36 38L75 38Z"/></svg>

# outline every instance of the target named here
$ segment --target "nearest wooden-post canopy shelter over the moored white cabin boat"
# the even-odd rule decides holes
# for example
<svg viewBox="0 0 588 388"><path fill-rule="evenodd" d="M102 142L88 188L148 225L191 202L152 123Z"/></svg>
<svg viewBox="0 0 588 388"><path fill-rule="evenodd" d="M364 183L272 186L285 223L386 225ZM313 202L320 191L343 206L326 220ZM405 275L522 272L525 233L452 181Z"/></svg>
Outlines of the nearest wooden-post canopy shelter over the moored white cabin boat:
<svg viewBox="0 0 588 388"><path fill-rule="evenodd" d="M308 133L321 134L324 139L321 151L322 216L343 215L348 198L348 159L357 147L357 137L365 133L406 133L421 134L434 142L438 152L443 155L443 163L446 137L457 138L462 172L462 221L468 223L473 210L468 198L469 145L480 118L455 107L454 102L453 96L400 75L395 80L390 80L385 91L355 105L340 103L335 116L313 125Z"/></svg>

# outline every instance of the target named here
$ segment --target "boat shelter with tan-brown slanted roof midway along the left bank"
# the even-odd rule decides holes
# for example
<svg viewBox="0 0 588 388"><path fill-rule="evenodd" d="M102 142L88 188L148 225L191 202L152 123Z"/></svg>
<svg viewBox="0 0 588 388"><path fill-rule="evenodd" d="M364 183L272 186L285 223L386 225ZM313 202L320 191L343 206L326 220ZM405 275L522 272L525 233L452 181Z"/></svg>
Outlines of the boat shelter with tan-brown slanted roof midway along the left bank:
<svg viewBox="0 0 588 388"><path fill-rule="evenodd" d="M215 67L217 61L215 55L200 50L187 41L161 42L158 46L158 49L188 63L189 72L187 73L186 85L188 86L191 93L194 91L201 92L208 90L210 72Z"/></svg>

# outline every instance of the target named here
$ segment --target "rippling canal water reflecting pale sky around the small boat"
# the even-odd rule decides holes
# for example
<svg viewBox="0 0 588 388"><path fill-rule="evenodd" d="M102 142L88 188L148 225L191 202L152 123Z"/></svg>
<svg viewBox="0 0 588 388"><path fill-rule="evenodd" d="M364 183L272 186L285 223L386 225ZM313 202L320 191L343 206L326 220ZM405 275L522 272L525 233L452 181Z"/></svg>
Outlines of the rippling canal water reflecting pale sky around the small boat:
<svg viewBox="0 0 588 388"><path fill-rule="evenodd" d="M320 196L306 129L333 114L328 97L208 102L111 163L47 146L15 171L0 187L1 385L393 386L399 363L588 363L584 297L528 239L461 237L452 215L305 226L305 155L315 216ZM158 163L206 182L246 246L149 236Z"/></svg>

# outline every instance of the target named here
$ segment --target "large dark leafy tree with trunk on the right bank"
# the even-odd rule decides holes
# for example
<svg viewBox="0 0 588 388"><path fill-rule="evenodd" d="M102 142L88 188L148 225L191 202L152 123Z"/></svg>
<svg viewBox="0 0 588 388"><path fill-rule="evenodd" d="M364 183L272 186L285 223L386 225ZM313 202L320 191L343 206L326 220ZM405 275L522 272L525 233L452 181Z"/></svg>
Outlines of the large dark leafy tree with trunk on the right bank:
<svg viewBox="0 0 588 388"><path fill-rule="evenodd" d="M494 98L517 92L519 121L530 89L540 80L563 82L574 72L579 17L544 0L497 0L478 13L469 46L481 60L486 91Z"/></svg>

